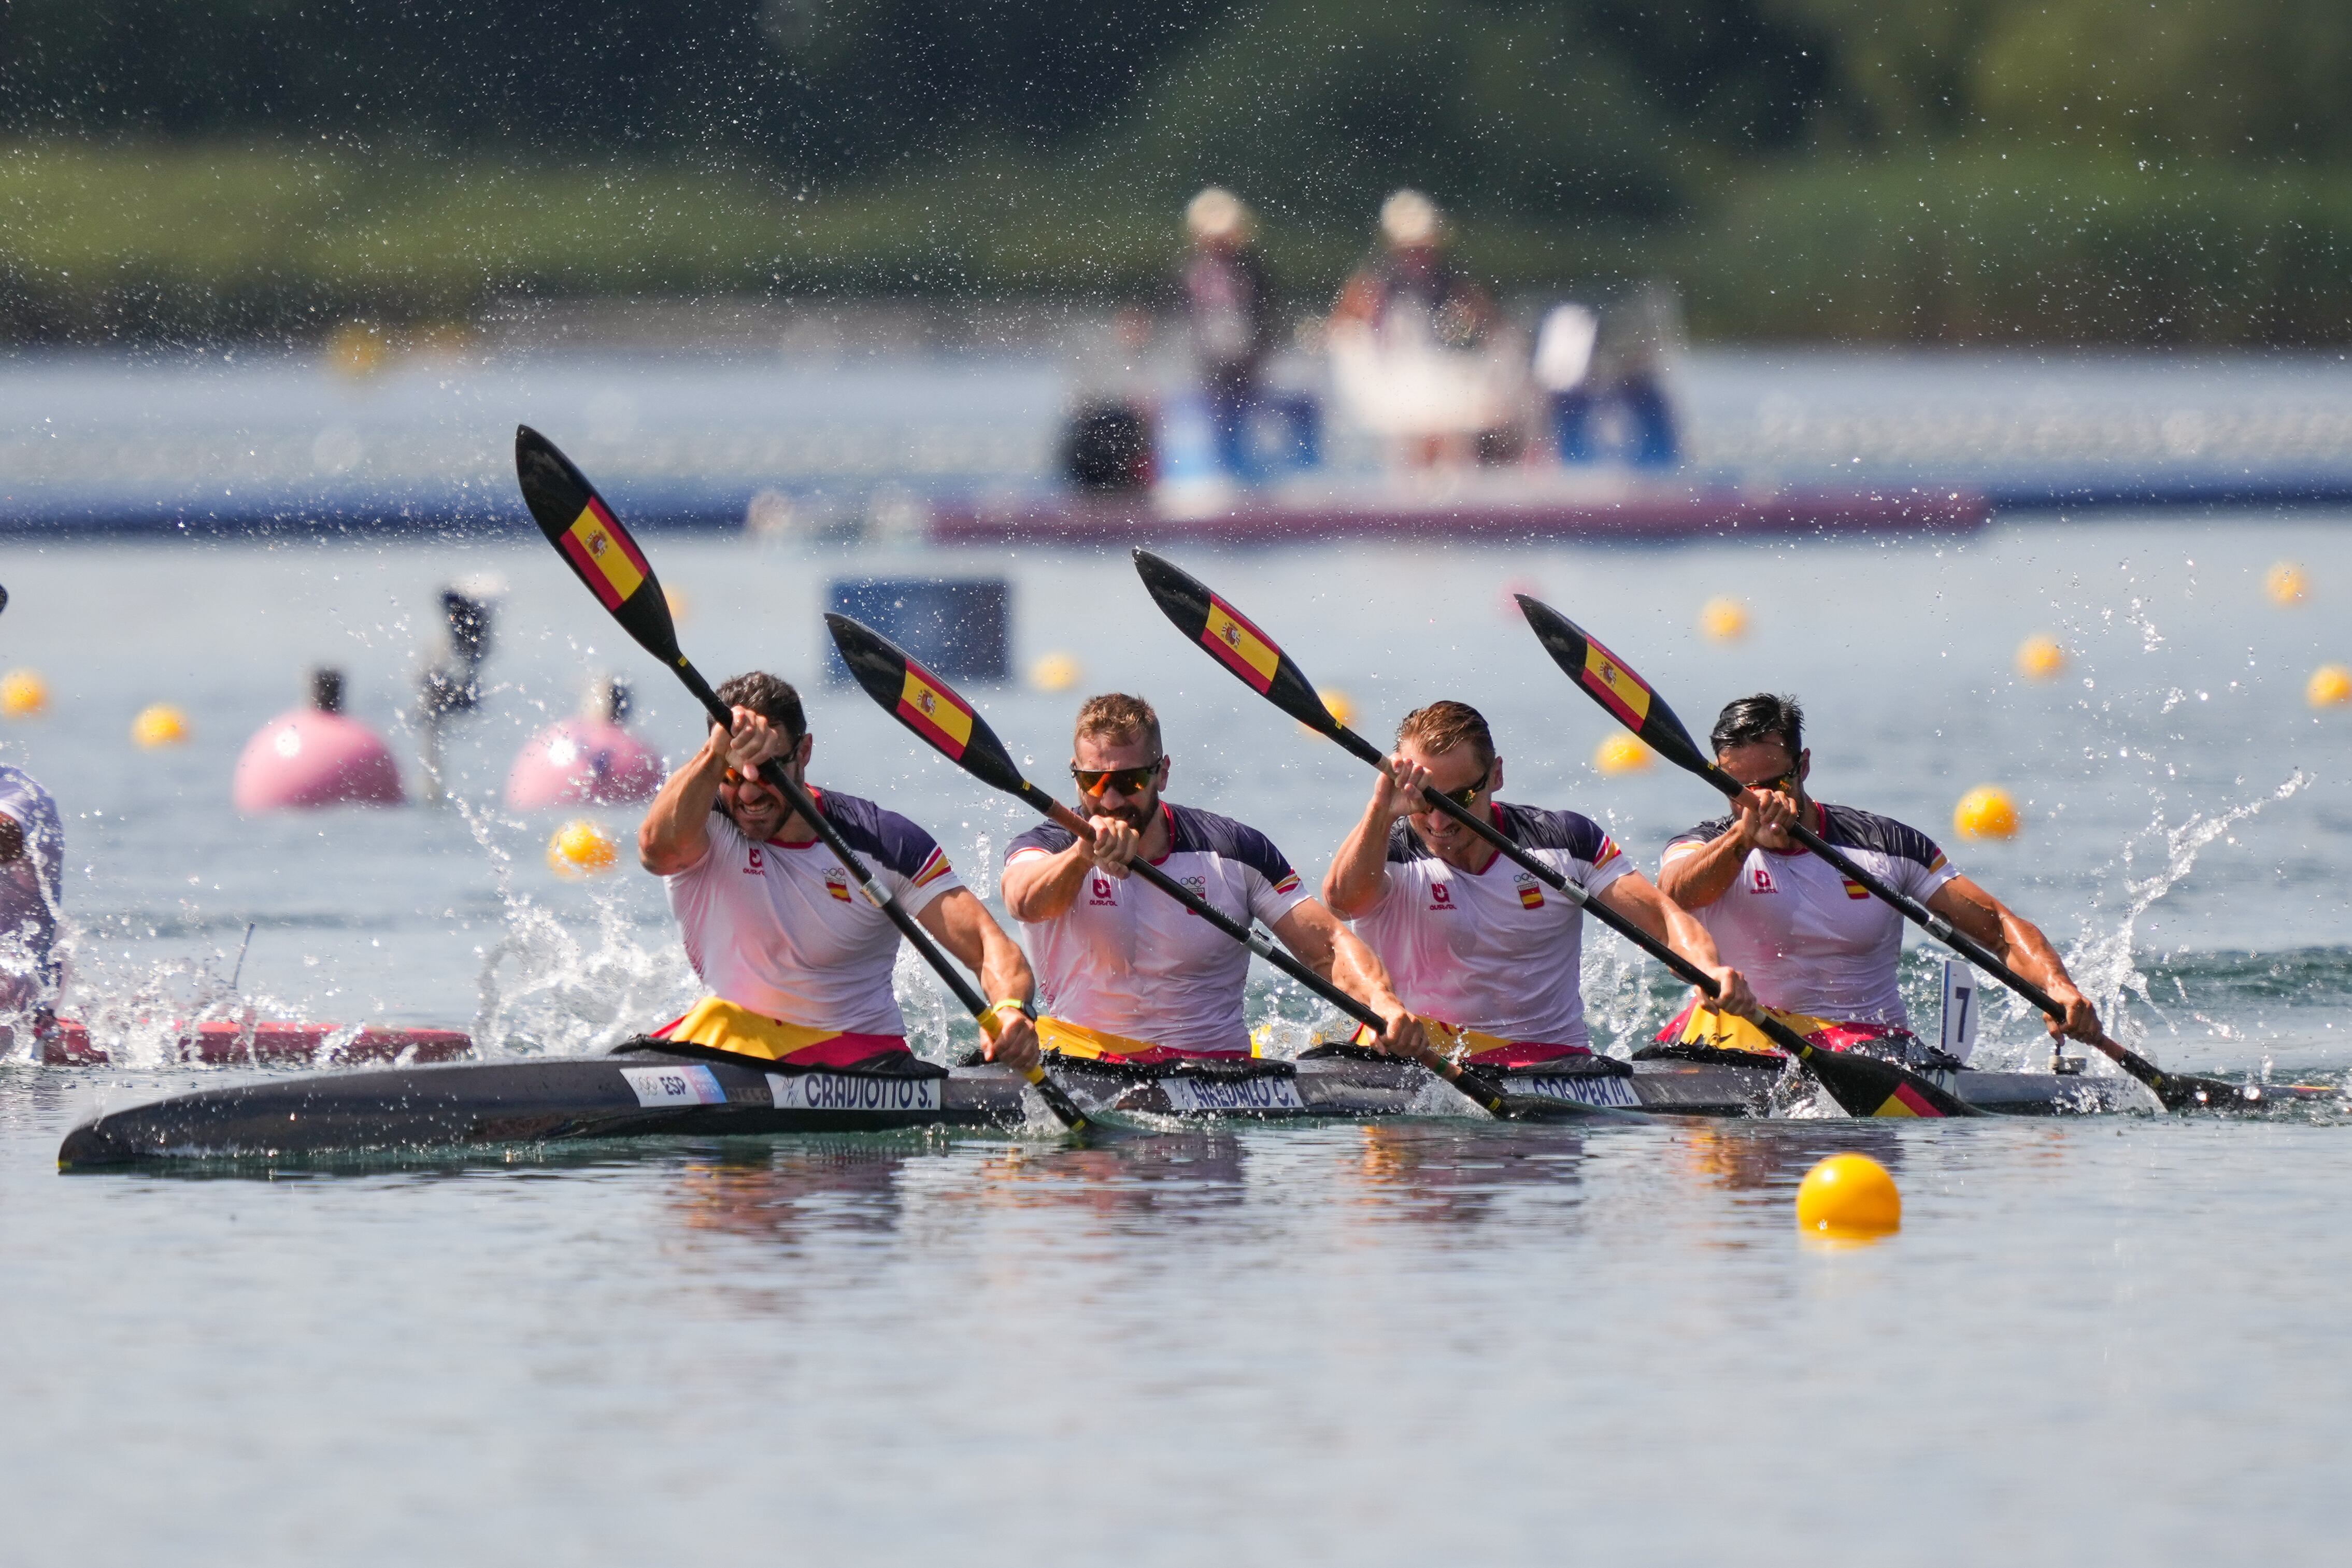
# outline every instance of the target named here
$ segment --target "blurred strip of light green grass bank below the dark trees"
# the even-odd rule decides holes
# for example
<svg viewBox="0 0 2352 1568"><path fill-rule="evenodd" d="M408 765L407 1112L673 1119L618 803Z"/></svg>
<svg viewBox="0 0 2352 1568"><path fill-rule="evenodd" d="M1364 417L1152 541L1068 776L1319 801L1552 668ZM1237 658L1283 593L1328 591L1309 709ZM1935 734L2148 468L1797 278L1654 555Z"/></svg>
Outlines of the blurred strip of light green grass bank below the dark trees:
<svg viewBox="0 0 2352 1568"><path fill-rule="evenodd" d="M974 155L811 195L753 169L299 143L0 146L0 336L280 339L501 301L1122 299L1176 259L1188 188ZM1362 221L1265 214L1319 306ZM1437 193L1444 197L1444 193ZM1757 167L1675 223L1468 214L1503 292L1675 282L1693 336L1884 343L2340 343L2352 172L1964 148Z"/></svg>

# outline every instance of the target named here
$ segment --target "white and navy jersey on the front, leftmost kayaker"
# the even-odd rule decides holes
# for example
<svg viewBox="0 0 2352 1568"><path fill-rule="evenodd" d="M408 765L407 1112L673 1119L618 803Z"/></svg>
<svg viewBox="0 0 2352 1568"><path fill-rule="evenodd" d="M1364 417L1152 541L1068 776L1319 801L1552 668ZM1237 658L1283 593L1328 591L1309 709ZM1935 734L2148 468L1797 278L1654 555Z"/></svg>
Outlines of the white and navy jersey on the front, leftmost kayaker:
<svg viewBox="0 0 2352 1568"><path fill-rule="evenodd" d="M929 832L870 799L809 790L908 914L962 886ZM823 839L786 844L743 837L710 813L710 853L663 877L687 959L724 1001L814 1030L906 1034L891 966L898 926L866 903Z"/></svg>

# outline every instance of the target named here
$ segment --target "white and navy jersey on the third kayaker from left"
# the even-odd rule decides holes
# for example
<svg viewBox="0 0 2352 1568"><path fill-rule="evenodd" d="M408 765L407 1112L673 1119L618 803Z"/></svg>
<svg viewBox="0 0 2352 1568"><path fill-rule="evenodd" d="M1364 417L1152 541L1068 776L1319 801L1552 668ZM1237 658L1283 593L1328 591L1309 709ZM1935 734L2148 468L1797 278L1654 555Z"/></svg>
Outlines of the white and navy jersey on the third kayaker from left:
<svg viewBox="0 0 2352 1568"><path fill-rule="evenodd" d="M1494 802L1494 825L1588 893L1632 870L1576 811ZM1404 1006L1498 1039L1590 1048L1583 910L1501 853L1482 872L1446 865L1404 820L1388 832L1385 870L1381 903L1355 933L1388 964Z"/></svg>

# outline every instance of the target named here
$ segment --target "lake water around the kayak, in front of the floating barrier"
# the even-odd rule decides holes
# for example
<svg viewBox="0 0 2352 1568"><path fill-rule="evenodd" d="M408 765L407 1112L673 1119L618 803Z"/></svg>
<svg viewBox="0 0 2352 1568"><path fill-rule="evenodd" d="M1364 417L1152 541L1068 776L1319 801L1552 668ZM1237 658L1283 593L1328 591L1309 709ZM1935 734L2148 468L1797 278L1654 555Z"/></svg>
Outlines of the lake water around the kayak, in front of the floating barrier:
<svg viewBox="0 0 2352 1568"><path fill-rule="evenodd" d="M2023 520L1940 543L1185 552L1381 736L1465 696L1505 795L1604 818L1653 867L1698 783L1599 778L1604 715L1503 609L1578 616L1705 729L1771 686L1813 785L1938 835L2077 961L2166 1065L2352 1070L2343 1018L2352 656L2338 515ZM2305 562L2277 609L2263 571ZM1265 827L1315 877L1367 773L1150 609L1105 555L816 552L661 538L713 677L807 679L818 783L882 797L993 882L1025 820L821 686L837 576L1002 571L1016 665L1150 696L1171 795ZM508 583L459 809L240 818L245 738L310 663L395 733L430 592ZM226 1081L160 1025L242 990L270 1013L470 1027L593 1051L691 976L659 886L546 870L555 818L496 804L590 668L682 755L684 696L536 541L14 545L0 663L52 712L0 726L68 823L75 1011L115 1067L0 1063L0 1497L26 1561L2336 1561L2352 1439L2338 1345L2352 1128L1463 1119L1073 1150L1035 1138L675 1143L343 1173L54 1173L78 1117ZM1712 644L1698 607L1740 595ZM2011 672L2034 630L2072 649ZM1077 693L983 689L1051 780ZM193 741L139 752L179 703ZM414 785L414 766L409 769ZM2002 783L2025 830L1957 844ZM633 816L597 813L616 835ZM1915 1006L1933 983L1910 959ZM917 1034L938 992L903 971ZM1602 1034L1675 1006L1597 945ZM1258 1016L1308 1018L1261 985ZM1994 1013L1983 1053L2034 1058ZM1792 1190L1865 1150L1898 1237L1804 1246Z"/></svg>

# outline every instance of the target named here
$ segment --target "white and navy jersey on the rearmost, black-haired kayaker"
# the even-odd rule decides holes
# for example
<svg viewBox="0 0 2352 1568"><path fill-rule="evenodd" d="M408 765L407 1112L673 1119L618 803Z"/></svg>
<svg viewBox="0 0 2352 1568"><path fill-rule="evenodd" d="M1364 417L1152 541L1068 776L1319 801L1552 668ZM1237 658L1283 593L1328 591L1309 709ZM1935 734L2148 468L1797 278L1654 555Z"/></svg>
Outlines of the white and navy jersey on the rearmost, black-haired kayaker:
<svg viewBox="0 0 2352 1568"><path fill-rule="evenodd" d="M1724 816L1675 835L1665 863L1731 832L1731 823ZM1933 839L1891 816L1813 802L1813 832L1922 903L1959 875ZM1724 964L1748 976L1764 1006L1835 1023L1910 1027L1896 987L1903 914L1802 844L1788 853L1750 849L1731 889L1691 914L1715 938Z"/></svg>

